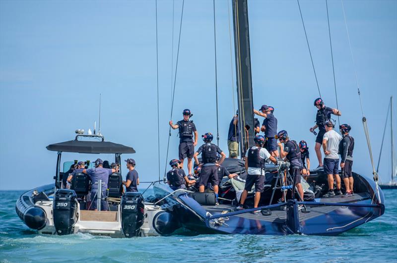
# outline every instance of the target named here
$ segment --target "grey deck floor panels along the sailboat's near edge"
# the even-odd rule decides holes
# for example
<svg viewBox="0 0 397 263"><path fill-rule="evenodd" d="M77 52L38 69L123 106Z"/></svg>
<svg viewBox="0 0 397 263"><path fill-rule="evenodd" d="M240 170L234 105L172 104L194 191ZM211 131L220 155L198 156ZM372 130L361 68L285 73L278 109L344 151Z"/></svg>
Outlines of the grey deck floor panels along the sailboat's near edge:
<svg viewBox="0 0 397 263"><path fill-rule="evenodd" d="M367 193L355 193L353 196L342 198L341 196L334 196L330 198L321 198L319 201L323 203L354 203L362 200L369 199L370 196ZM232 205L219 205L219 206L202 206L205 210L210 212L211 214L215 213L222 213L222 212L233 212L237 211L236 208ZM299 218L301 221L329 213L332 210L338 209L340 207L336 206L324 206L324 207L317 207L312 206L310 207L310 212L302 212L299 211ZM235 216L244 217L248 219L260 219L269 222L284 222L286 220L286 211L274 209L271 210L270 215L263 215L262 213L253 214L250 212L237 214Z"/></svg>

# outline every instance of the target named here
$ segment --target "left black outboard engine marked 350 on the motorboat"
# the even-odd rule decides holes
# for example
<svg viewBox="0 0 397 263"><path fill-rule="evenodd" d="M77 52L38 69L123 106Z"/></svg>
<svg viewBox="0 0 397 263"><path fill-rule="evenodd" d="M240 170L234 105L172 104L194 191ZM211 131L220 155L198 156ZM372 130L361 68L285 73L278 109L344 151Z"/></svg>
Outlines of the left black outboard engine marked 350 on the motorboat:
<svg viewBox="0 0 397 263"><path fill-rule="evenodd" d="M58 235L73 233L77 222L77 195L74 190L59 189L53 202L54 226Z"/></svg>

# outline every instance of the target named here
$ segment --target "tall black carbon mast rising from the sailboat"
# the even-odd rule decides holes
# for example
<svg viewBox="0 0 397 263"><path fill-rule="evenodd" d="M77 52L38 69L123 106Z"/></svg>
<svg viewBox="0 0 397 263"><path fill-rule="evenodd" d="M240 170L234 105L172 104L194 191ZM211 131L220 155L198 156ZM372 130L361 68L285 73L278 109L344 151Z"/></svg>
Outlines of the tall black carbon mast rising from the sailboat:
<svg viewBox="0 0 397 263"><path fill-rule="evenodd" d="M248 28L247 0L232 0L234 42L236 55L236 79L241 131L240 153L254 145L254 103L252 96L250 34Z"/></svg>

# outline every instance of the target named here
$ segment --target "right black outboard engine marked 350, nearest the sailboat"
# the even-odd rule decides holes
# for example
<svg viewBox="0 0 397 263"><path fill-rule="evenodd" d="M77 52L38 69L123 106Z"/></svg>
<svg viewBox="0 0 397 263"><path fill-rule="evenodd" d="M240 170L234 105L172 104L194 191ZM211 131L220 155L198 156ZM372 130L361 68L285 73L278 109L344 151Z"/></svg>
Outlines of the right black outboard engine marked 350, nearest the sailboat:
<svg viewBox="0 0 397 263"><path fill-rule="evenodd" d="M140 235L140 228L145 215L145 205L142 194L138 192L125 193L120 202L121 227L126 237Z"/></svg>

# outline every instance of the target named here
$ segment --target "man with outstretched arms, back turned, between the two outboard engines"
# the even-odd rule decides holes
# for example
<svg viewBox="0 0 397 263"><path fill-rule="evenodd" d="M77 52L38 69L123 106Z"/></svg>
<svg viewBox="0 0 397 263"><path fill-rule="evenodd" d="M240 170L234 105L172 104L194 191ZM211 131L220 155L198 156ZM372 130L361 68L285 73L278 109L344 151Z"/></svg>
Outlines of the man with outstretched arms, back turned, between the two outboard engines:
<svg viewBox="0 0 397 263"><path fill-rule="evenodd" d="M92 182L92 189L91 189L91 195L90 195L90 200L91 200L91 210L97 210L98 208L98 183L99 180L102 180L102 200L101 200L101 210L109 210L108 202L105 201L106 198L106 192L108 188L108 181L109 181L109 175L114 173L116 170L115 169L108 169L108 168L103 168L103 160L98 158L95 160L95 168L90 168L90 169L84 169L82 170L83 173L88 174L88 176L91 178Z"/></svg>

